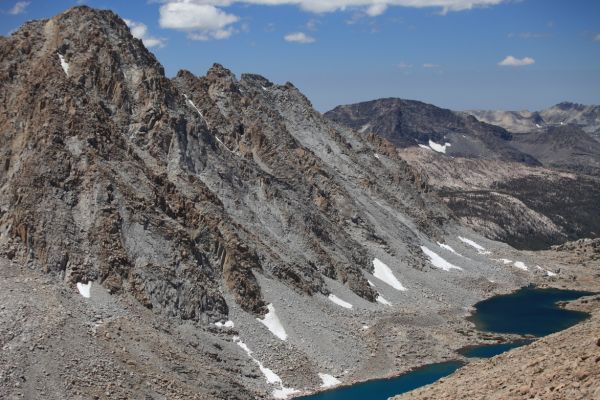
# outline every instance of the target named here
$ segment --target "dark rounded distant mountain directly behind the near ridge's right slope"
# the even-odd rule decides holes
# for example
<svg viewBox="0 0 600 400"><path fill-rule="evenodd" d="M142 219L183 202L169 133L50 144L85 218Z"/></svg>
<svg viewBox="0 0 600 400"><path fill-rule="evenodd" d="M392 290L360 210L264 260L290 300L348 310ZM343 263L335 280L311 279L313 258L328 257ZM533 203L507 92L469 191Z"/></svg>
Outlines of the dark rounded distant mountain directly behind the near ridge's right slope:
<svg viewBox="0 0 600 400"><path fill-rule="evenodd" d="M325 113L331 120L361 132L373 132L398 147L450 143L446 154L539 165L511 146L512 134L474 117L413 100L380 99L338 106Z"/></svg>

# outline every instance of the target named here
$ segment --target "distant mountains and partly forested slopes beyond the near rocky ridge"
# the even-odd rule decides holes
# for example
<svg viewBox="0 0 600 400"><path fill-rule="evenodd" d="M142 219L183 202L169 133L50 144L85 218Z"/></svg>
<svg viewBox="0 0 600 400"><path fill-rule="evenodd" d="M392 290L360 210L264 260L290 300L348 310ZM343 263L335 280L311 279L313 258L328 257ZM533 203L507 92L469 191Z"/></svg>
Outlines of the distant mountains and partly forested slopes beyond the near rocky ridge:
<svg viewBox="0 0 600 400"><path fill-rule="evenodd" d="M516 126L506 122L513 114L473 113L485 117L480 122L401 99L338 106L325 115L401 147L463 223L520 249L543 249L600 234L600 142L588 133L600 121L594 110L562 103L538 116L520 114L533 126L527 132L504 129Z"/></svg>

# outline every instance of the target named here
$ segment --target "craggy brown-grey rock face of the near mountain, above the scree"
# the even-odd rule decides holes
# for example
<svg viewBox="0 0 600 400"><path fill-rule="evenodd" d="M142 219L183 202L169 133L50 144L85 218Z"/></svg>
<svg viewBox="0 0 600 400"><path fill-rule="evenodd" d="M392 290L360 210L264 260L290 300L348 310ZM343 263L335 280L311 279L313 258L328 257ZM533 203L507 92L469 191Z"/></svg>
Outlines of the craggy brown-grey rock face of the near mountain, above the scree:
<svg viewBox="0 0 600 400"><path fill-rule="evenodd" d="M421 258L416 235L447 221L388 142L333 126L291 84L220 65L167 79L110 11L30 22L0 57L2 240L72 284L203 321L227 315L222 288L265 313L257 272L375 301L362 271L386 246L376 227Z"/></svg>

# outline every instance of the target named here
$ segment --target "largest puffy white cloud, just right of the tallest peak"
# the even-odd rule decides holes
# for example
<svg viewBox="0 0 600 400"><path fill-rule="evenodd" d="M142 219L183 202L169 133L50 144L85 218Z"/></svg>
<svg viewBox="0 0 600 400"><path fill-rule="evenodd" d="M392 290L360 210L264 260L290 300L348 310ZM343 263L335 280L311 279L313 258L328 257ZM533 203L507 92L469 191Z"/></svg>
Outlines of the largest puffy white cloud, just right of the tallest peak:
<svg viewBox="0 0 600 400"><path fill-rule="evenodd" d="M228 14L213 4L227 6L219 0L173 1L160 7L160 26L188 32L192 40L226 39L236 32L232 24L239 17Z"/></svg>

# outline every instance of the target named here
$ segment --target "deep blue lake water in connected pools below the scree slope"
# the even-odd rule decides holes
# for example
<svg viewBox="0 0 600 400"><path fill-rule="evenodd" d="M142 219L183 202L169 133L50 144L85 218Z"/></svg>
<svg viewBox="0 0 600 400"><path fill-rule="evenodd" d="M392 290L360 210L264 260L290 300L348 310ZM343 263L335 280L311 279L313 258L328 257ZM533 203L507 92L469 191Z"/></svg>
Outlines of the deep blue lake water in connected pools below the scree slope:
<svg viewBox="0 0 600 400"><path fill-rule="evenodd" d="M477 329L487 332L545 336L566 329L588 317L588 314L565 310L556 302L575 300L591 293L560 289L525 287L514 293L495 296L475 305L469 319ZM462 349L467 357L493 357L529 341L473 346ZM463 364L450 361L426 365L391 379L357 383L311 396L302 400L387 400L450 375Z"/></svg>

